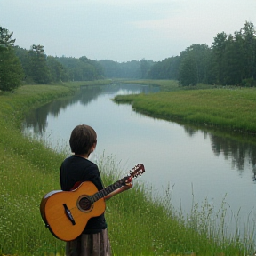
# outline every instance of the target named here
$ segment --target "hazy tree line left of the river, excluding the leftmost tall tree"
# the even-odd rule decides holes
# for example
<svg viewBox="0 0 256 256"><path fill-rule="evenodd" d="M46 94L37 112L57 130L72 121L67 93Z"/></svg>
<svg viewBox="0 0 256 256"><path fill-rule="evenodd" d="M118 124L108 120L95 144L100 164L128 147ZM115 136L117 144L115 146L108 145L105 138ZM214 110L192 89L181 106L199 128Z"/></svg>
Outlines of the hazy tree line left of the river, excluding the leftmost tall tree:
<svg viewBox="0 0 256 256"><path fill-rule="evenodd" d="M103 68L96 60L85 56L73 57L47 56L43 45L33 44L30 50L14 47L27 83L50 84L67 81L88 81L104 77Z"/></svg>

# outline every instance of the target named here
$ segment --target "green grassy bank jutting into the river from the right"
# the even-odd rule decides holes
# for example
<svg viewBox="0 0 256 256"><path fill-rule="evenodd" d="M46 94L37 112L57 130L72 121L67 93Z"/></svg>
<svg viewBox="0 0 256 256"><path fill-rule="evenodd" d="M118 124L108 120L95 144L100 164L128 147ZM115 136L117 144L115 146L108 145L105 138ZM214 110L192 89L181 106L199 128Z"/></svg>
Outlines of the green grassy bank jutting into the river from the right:
<svg viewBox="0 0 256 256"><path fill-rule="evenodd" d="M114 100L117 103L132 104L135 111L156 118L256 134L255 88L223 87L122 95L116 96Z"/></svg>

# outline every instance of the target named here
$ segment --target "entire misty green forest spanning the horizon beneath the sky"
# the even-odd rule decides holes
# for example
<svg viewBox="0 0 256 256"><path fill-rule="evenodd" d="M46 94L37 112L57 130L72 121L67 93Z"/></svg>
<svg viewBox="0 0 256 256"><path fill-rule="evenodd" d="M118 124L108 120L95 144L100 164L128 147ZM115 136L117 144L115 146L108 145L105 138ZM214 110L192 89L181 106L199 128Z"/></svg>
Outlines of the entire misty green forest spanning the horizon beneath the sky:
<svg viewBox="0 0 256 256"><path fill-rule="evenodd" d="M13 32L0 26L0 90L22 83L51 84L102 78L173 79L180 85L256 86L256 30L252 22L234 35L220 32L212 45L192 44L177 56L161 61L90 60L85 56L47 56L43 45L15 45Z"/></svg>

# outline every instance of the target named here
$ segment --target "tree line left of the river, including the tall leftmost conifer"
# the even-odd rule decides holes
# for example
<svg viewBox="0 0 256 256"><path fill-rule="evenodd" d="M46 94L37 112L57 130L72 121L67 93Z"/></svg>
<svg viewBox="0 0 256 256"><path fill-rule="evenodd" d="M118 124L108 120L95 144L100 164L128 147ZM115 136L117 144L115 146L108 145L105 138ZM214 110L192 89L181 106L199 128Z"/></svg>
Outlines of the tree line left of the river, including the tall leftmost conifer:
<svg viewBox="0 0 256 256"><path fill-rule="evenodd" d="M13 32L0 26L0 90L12 91L22 82L51 84L67 81L88 81L104 78L97 60L85 56L47 56L43 45L31 45L29 50L14 45Z"/></svg>

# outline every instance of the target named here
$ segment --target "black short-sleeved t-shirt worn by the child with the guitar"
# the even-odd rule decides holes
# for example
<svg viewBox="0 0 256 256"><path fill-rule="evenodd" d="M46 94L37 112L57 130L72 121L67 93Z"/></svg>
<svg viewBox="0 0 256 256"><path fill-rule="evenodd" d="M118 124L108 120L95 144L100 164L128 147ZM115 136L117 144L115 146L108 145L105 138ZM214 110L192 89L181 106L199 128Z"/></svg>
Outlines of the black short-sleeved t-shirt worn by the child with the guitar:
<svg viewBox="0 0 256 256"><path fill-rule="evenodd" d="M91 181L98 190L103 188L98 166L81 156L69 156L60 166L60 187L64 191L74 188L76 182ZM99 233L107 228L104 213L93 217L84 228L85 234Z"/></svg>

